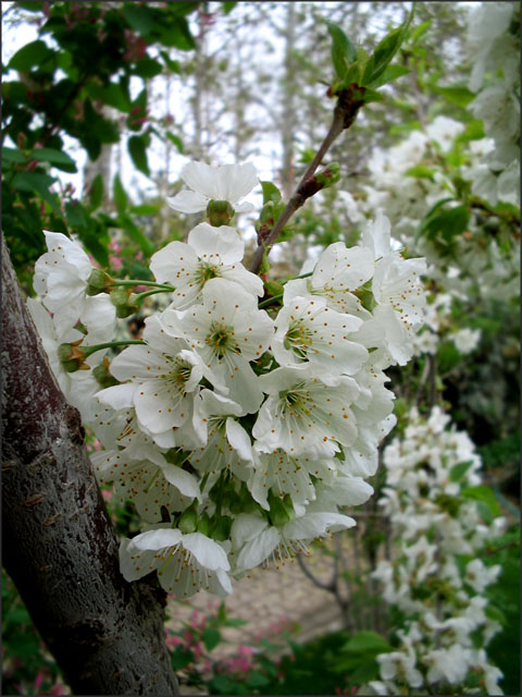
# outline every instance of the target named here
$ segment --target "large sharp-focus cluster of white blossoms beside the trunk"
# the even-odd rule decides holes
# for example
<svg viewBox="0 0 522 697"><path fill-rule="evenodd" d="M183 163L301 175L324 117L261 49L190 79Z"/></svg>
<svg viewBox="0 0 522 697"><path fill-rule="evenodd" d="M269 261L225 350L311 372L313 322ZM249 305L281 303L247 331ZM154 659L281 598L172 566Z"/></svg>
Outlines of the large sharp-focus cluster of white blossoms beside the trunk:
<svg viewBox="0 0 522 697"><path fill-rule="evenodd" d="M229 594L231 575L356 524L341 509L373 492L364 478L396 420L384 370L412 356L425 271L423 259L391 249L377 216L360 246L328 246L307 278L264 297L239 232L222 224L257 183L253 167L191 162L183 178L192 191L169 204L207 209L214 224L151 257L154 292L169 305L146 319L141 340L117 342L132 345L109 364L114 303L128 315L133 282L87 267L59 233L46 233L35 277L52 319L30 303L42 335L52 334L52 368L103 447L91 455L99 481L142 519L121 545L123 575L157 571L179 598ZM103 364L92 370L96 358ZM109 376L109 387L84 398L76 376L90 388Z"/></svg>

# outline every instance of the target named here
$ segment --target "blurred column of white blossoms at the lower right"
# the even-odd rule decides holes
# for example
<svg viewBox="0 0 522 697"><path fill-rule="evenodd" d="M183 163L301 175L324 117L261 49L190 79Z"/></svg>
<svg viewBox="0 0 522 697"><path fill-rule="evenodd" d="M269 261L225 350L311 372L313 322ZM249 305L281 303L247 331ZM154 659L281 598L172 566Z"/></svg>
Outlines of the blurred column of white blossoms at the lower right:
<svg viewBox="0 0 522 697"><path fill-rule="evenodd" d="M384 465L378 503L390 519L394 561L378 562L373 576L407 619L397 649L377 657L372 694L501 695L502 675L486 653L500 629L498 611L483 595L500 566L486 566L477 552L505 519L478 503L472 441L439 407L427 419L412 409L403 437L384 450Z"/></svg>

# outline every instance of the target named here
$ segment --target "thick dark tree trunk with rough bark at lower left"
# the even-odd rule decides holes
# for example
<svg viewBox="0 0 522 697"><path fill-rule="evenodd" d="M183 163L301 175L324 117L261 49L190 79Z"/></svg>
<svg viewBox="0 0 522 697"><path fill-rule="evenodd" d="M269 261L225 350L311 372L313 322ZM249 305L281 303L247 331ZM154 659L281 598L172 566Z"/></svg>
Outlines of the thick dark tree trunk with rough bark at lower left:
<svg viewBox="0 0 522 697"><path fill-rule="evenodd" d="M75 695L177 695L165 595L120 574L79 414L51 374L3 237L2 340L4 567Z"/></svg>

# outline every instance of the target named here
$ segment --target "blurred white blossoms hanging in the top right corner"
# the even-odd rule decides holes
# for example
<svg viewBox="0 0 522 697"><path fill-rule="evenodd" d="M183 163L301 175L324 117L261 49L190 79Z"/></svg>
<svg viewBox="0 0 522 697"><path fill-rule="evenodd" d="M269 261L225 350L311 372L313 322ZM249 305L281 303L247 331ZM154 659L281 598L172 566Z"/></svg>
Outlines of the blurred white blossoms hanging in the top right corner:
<svg viewBox="0 0 522 697"><path fill-rule="evenodd" d="M472 171L473 193L520 206L520 4L483 2L470 15L469 109L494 146Z"/></svg>

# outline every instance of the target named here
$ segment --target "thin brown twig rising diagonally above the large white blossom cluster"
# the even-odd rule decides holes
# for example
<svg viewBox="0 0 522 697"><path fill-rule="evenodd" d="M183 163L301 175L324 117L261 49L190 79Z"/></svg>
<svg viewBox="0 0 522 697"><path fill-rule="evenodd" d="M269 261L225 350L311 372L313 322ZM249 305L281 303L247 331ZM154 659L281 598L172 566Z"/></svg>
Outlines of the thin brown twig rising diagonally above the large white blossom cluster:
<svg viewBox="0 0 522 697"><path fill-rule="evenodd" d="M349 129L356 120L357 112L363 105L363 101L360 98L355 98L353 93L356 93L356 90L359 90L358 96L360 96L363 88L358 87L357 85L350 85L350 88L343 89L339 93L337 103L334 108L332 125L330 126L330 130L323 143L321 144L321 147L315 154L312 162L308 166L307 171L302 175L301 181L297 185L297 188L287 203L285 209L277 218L277 221L272 228L270 234L265 235L265 237L260 241L258 248L253 254L252 264L250 266L250 271L252 273L259 272L259 269L261 268L261 265L263 262L263 255L270 254L273 244L276 242L283 228L286 225L296 210L298 210L304 204L307 198L310 198L322 188L322 186L314 180L313 175L334 140L340 135L340 133L343 133L345 129Z"/></svg>

